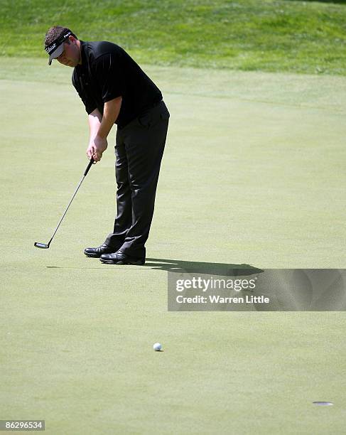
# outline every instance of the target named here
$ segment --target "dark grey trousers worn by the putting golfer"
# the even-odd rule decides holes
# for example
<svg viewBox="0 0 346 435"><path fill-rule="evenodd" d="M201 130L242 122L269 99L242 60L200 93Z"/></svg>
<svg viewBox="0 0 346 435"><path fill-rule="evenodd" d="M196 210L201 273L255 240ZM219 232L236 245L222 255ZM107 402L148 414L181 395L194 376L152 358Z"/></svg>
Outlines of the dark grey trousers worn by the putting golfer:
<svg viewBox="0 0 346 435"><path fill-rule="evenodd" d="M117 218L105 244L145 258L158 173L166 144L169 112L162 101L117 130L115 174Z"/></svg>

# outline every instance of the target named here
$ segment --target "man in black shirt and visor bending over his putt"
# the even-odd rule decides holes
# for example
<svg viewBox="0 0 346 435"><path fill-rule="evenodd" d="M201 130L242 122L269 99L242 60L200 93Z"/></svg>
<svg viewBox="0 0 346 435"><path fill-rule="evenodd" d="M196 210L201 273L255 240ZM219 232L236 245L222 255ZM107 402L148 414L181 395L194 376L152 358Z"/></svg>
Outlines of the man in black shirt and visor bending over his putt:
<svg viewBox="0 0 346 435"><path fill-rule="evenodd" d="M55 26L45 35L45 51L49 65L57 59L73 68L72 84L89 120L89 159L101 160L117 124L114 229L85 255L108 264L144 264L170 116L161 91L114 43L80 41L69 28Z"/></svg>

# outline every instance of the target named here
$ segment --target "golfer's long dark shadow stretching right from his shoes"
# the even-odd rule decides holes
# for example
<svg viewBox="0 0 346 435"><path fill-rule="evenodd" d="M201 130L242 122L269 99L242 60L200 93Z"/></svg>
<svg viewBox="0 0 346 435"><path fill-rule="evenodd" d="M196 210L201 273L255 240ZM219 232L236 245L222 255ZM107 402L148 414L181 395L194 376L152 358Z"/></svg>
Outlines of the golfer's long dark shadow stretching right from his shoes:
<svg viewBox="0 0 346 435"><path fill-rule="evenodd" d="M178 259L147 258L144 267L176 273L245 276L264 272L249 264L187 262Z"/></svg>

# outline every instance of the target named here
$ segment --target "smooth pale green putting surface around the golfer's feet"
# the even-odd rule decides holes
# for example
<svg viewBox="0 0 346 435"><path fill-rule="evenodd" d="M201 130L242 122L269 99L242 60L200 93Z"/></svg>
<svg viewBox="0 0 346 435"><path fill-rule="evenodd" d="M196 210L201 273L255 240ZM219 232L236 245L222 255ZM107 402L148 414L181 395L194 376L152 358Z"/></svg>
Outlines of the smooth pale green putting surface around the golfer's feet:
<svg viewBox="0 0 346 435"><path fill-rule="evenodd" d="M112 230L115 128L33 247L82 177L88 127L72 70L29 64L0 59L0 419L342 433L344 313L168 313L165 264L345 268L345 78L144 68L171 122L147 264L117 267L82 254Z"/></svg>

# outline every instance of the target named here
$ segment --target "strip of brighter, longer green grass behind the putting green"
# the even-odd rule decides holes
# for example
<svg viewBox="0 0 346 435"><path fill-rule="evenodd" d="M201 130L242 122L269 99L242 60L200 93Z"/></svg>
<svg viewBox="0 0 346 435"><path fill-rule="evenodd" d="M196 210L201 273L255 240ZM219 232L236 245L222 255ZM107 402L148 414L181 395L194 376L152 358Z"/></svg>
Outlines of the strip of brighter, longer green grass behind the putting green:
<svg viewBox="0 0 346 435"><path fill-rule="evenodd" d="M344 2L345 3L345 2ZM345 4L292 0L0 0L0 55L44 56L48 27L141 63L346 74Z"/></svg>

